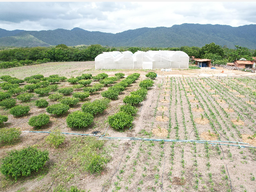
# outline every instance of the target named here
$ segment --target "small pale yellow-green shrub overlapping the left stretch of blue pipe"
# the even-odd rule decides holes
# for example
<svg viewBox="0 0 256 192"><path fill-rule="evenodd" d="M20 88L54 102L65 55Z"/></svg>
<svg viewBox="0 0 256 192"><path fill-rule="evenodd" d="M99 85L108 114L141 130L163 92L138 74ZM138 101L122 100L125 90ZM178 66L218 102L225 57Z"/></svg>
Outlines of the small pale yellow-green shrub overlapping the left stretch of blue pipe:
<svg viewBox="0 0 256 192"><path fill-rule="evenodd" d="M51 145L54 148L58 148L65 141L65 136L61 134L59 129L54 129L52 133L50 133L46 138L45 141L48 145Z"/></svg>

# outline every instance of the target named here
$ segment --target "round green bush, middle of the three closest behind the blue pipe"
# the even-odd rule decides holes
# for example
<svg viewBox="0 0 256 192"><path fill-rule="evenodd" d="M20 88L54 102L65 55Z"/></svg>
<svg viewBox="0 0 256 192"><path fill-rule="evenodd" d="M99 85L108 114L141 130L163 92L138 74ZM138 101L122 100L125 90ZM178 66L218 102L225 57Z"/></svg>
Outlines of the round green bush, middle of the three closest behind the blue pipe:
<svg viewBox="0 0 256 192"><path fill-rule="evenodd" d="M84 128L91 125L92 122L93 115L91 113L75 111L67 116L67 126L70 128Z"/></svg>

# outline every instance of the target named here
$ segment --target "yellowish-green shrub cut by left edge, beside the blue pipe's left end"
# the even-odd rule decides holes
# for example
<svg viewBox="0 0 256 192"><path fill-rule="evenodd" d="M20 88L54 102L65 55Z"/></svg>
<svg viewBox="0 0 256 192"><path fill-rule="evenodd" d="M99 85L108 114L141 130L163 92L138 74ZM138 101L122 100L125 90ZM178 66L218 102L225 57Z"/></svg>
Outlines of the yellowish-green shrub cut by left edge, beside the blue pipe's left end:
<svg viewBox="0 0 256 192"><path fill-rule="evenodd" d="M11 143L19 139L21 131L19 128L1 128L0 143Z"/></svg>

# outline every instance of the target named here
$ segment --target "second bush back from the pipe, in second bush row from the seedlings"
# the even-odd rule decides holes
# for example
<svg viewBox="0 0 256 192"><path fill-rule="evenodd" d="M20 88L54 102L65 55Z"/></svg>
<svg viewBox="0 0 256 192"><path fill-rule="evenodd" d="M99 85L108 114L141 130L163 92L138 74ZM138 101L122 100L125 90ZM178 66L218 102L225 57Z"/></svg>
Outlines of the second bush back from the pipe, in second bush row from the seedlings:
<svg viewBox="0 0 256 192"><path fill-rule="evenodd" d="M110 99L96 99L93 102L86 102L82 105L81 109L84 113L102 113L107 107Z"/></svg>

